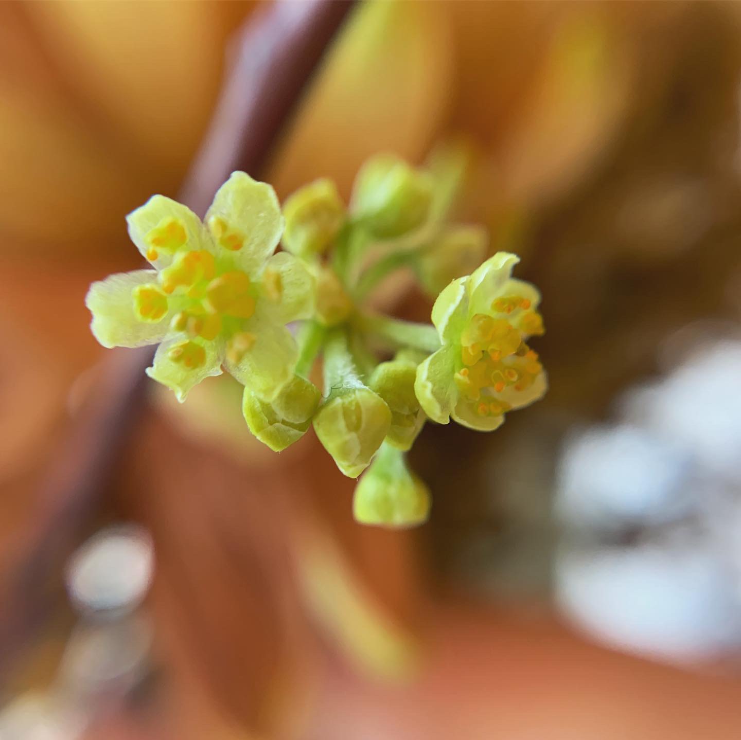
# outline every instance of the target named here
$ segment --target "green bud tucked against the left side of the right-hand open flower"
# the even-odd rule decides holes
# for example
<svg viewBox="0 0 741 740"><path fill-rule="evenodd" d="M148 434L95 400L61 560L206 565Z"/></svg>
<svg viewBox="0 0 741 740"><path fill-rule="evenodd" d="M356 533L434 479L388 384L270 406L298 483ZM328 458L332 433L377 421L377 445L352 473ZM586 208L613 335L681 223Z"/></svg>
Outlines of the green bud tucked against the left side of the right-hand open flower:
<svg viewBox="0 0 741 740"><path fill-rule="evenodd" d="M425 424L425 412L414 393L416 368L416 362L396 356L376 366L368 379L368 387L378 393L391 410L386 441L399 450L410 449Z"/></svg>

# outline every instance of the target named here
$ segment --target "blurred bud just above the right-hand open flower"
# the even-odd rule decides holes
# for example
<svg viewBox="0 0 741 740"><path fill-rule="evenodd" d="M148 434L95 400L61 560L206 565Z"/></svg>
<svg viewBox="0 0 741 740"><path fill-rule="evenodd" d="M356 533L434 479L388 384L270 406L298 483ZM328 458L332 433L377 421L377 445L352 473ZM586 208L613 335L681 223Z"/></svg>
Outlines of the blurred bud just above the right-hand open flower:
<svg viewBox="0 0 741 740"><path fill-rule="evenodd" d="M456 278L468 275L482 263L486 232L478 226L456 226L445 230L416 261L416 273L428 295L437 297Z"/></svg>

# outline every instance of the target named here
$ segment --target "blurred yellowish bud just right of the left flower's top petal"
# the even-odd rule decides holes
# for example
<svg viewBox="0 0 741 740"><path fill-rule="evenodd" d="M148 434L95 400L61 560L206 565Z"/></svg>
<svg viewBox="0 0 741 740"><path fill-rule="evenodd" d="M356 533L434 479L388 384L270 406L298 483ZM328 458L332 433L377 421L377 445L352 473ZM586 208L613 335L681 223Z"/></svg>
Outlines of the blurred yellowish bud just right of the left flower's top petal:
<svg viewBox="0 0 741 740"><path fill-rule="evenodd" d="M333 181L316 180L283 204L283 246L301 257L322 254L345 223L345 204Z"/></svg>

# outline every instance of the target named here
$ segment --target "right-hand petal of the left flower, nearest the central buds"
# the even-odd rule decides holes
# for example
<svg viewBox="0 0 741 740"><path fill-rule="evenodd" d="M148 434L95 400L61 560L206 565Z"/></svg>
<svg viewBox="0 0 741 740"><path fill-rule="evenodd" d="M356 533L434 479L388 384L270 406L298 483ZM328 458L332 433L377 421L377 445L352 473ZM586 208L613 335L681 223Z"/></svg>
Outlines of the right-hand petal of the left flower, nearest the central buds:
<svg viewBox="0 0 741 740"><path fill-rule="evenodd" d="M274 254L262 271L263 300L274 304L273 316L288 324L311 319L316 306L316 279L305 264L288 252Z"/></svg>

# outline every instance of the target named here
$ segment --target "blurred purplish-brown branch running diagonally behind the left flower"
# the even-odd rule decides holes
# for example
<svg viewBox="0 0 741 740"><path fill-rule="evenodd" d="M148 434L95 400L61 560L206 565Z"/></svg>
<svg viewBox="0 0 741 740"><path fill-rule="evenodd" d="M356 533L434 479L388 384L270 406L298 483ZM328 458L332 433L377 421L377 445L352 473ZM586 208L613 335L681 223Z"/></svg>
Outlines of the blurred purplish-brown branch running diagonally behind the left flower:
<svg viewBox="0 0 741 740"><path fill-rule="evenodd" d="M203 214L236 169L259 176L353 2L271 4L245 24L180 199ZM50 613L60 571L93 519L145 399L153 350L114 350L50 461L19 566L1 596L0 675Z"/></svg>

